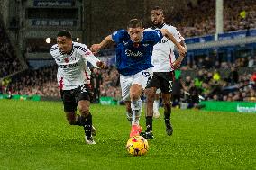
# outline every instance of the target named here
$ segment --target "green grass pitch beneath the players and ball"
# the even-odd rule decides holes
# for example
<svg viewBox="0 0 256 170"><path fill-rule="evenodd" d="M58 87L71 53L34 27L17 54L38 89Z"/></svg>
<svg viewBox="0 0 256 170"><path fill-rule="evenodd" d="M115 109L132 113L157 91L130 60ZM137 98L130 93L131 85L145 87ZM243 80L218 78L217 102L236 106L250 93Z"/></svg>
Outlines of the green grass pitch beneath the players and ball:
<svg viewBox="0 0 256 170"><path fill-rule="evenodd" d="M0 169L256 169L256 114L174 109L173 136L161 114L148 154L133 157L124 107L91 111L95 146L67 123L62 103L0 100Z"/></svg>

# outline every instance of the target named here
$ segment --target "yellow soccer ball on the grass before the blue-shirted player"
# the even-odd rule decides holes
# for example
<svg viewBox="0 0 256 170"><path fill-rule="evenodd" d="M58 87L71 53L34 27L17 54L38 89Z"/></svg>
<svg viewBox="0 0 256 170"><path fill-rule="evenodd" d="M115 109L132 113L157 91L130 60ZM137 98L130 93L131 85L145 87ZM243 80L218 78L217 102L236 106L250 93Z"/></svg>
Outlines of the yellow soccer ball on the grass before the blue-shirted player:
<svg viewBox="0 0 256 170"><path fill-rule="evenodd" d="M149 144L142 136L134 136L128 139L126 149L133 156L142 156L148 152Z"/></svg>

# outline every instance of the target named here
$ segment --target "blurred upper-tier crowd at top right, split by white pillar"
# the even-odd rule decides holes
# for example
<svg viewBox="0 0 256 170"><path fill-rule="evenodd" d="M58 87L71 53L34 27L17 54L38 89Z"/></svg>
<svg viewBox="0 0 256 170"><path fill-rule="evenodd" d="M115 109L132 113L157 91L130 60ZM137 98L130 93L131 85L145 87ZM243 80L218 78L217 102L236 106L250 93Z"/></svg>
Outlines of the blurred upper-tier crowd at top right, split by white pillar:
<svg viewBox="0 0 256 170"><path fill-rule="evenodd" d="M167 14L166 21L175 25L184 37L215 33L215 0L188 3L184 11ZM256 1L225 0L224 32L256 28Z"/></svg>

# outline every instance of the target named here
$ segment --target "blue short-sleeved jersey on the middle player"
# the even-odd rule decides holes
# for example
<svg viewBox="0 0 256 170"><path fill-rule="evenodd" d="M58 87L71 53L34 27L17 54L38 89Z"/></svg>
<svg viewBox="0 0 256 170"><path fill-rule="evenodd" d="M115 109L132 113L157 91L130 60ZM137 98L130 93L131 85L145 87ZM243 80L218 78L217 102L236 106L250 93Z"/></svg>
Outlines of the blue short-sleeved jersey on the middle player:
<svg viewBox="0 0 256 170"><path fill-rule="evenodd" d="M153 67L151 64L153 46L162 38L159 30L144 31L141 42L134 43L127 31L115 31L112 39L117 44L116 67L118 72L128 76Z"/></svg>

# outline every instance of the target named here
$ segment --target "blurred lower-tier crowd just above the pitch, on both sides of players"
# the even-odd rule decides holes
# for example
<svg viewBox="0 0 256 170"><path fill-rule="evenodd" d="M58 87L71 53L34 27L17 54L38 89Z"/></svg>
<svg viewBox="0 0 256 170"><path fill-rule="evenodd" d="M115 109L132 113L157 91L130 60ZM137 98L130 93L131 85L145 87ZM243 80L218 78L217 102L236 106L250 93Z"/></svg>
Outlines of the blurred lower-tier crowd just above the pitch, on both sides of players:
<svg viewBox="0 0 256 170"><path fill-rule="evenodd" d="M256 102L256 71L253 74L239 74L239 67L236 66L231 67L225 75L218 69L197 70L194 77L181 74L176 79L173 85L174 103L199 103L199 96L204 100ZM2 84L0 93L60 97L56 73L56 66L26 71L13 77L7 84ZM101 96L121 100L119 74L115 67L92 69L91 87L92 103L99 103Z"/></svg>

